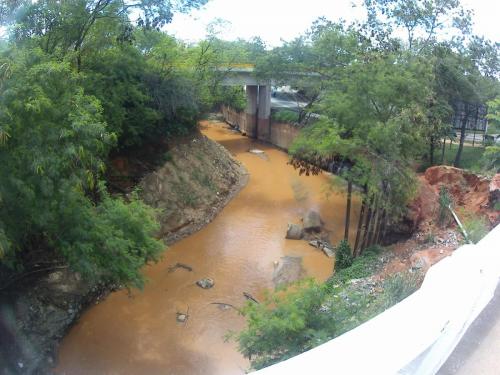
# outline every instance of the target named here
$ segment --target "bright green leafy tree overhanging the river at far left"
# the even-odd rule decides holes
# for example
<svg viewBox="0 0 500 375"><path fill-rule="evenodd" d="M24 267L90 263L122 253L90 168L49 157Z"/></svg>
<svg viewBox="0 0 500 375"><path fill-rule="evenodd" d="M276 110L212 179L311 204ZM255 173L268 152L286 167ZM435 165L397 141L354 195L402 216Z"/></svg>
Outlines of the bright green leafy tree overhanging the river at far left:
<svg viewBox="0 0 500 375"><path fill-rule="evenodd" d="M55 251L75 271L134 286L163 246L154 212L110 198L101 179L115 136L70 64L11 51L0 99L0 261L29 269ZM35 260L36 262L37 260Z"/></svg>

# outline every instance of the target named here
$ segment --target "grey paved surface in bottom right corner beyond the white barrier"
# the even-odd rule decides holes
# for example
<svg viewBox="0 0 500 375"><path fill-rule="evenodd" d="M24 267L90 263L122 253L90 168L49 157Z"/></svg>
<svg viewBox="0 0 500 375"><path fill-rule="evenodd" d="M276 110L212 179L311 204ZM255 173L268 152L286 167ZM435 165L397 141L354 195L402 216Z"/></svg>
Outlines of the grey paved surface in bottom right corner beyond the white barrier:
<svg viewBox="0 0 500 375"><path fill-rule="evenodd" d="M500 284L438 375L500 374Z"/></svg>

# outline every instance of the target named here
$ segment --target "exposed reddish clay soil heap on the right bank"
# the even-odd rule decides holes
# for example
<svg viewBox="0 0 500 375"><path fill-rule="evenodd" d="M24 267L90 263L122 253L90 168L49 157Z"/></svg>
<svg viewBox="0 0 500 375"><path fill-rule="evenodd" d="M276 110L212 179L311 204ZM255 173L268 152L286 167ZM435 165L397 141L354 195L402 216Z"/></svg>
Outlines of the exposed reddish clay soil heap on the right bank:
<svg viewBox="0 0 500 375"><path fill-rule="evenodd" d="M489 180L462 169L436 166L428 168L418 176L418 180L419 193L410 204L407 217L407 221L412 223L413 235L392 246L393 258L379 274L380 278L410 268L425 272L463 242L454 222L450 222L446 228L441 228L437 223L439 190L442 186L450 193L457 211L463 209L484 215L492 227L500 221L500 211L494 209L494 203L500 199L497 196L500 195L500 174Z"/></svg>

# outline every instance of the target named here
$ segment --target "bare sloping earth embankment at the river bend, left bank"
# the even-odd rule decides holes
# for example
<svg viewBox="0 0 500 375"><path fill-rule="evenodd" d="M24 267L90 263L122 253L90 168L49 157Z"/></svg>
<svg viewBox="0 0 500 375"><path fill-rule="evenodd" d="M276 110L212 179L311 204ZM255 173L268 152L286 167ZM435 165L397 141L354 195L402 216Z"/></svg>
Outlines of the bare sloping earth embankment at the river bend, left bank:
<svg viewBox="0 0 500 375"><path fill-rule="evenodd" d="M159 210L167 243L209 223L246 183L247 172L218 143L194 135L169 151L170 161L140 183L141 197Z"/></svg>

